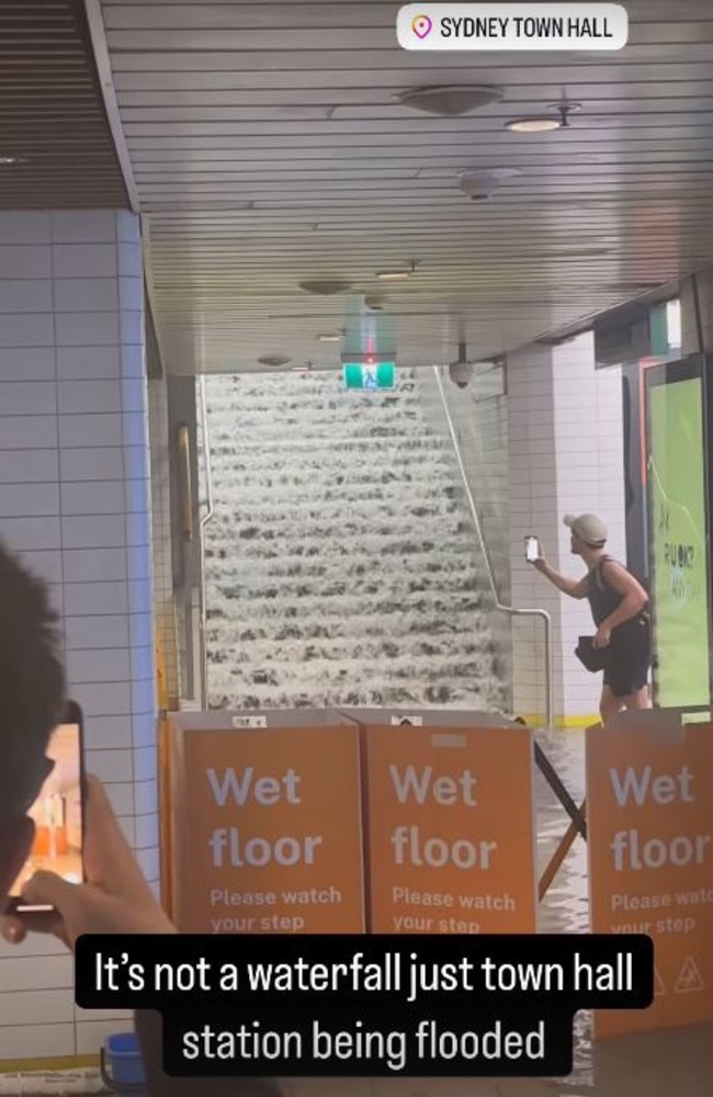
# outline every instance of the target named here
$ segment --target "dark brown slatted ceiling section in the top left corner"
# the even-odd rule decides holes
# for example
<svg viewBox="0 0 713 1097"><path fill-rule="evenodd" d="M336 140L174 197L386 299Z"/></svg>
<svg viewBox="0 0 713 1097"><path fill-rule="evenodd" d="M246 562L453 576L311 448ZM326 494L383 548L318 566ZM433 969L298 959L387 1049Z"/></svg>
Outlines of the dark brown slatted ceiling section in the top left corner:
<svg viewBox="0 0 713 1097"><path fill-rule="evenodd" d="M0 2L0 208L124 207L84 7Z"/></svg>

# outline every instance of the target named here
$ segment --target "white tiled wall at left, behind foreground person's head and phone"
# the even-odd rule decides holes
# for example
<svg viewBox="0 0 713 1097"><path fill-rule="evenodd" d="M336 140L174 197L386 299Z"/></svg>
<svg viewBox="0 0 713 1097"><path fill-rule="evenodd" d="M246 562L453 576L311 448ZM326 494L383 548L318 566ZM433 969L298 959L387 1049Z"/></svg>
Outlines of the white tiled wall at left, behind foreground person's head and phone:
<svg viewBox="0 0 713 1097"><path fill-rule="evenodd" d="M137 219L0 213L0 536L52 587L89 768L156 881L146 400ZM0 1059L94 1051L123 1027L77 1009L71 982L61 946L0 945Z"/></svg>

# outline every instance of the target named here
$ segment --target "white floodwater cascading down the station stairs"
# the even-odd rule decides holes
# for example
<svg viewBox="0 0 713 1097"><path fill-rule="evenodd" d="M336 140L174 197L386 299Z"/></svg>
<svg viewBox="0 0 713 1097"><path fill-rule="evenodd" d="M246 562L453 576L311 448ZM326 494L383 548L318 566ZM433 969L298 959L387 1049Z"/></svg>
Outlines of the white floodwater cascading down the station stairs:
<svg viewBox="0 0 713 1097"><path fill-rule="evenodd" d="M502 711L486 573L425 384L207 378L212 706Z"/></svg>

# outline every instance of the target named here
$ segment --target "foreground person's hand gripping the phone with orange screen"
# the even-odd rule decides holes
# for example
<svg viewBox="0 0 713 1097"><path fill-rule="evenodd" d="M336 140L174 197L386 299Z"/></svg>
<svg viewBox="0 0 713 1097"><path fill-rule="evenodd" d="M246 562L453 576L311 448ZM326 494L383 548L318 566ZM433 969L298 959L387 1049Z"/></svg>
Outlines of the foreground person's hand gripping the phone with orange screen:
<svg viewBox="0 0 713 1097"><path fill-rule="evenodd" d="M73 949L83 934L177 932L156 901L98 778L87 778L84 811L86 883L69 883L54 872L35 873L23 889L23 898L53 911L5 916L5 940L18 945L29 931L49 932Z"/></svg>

